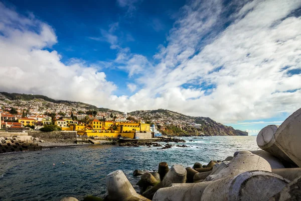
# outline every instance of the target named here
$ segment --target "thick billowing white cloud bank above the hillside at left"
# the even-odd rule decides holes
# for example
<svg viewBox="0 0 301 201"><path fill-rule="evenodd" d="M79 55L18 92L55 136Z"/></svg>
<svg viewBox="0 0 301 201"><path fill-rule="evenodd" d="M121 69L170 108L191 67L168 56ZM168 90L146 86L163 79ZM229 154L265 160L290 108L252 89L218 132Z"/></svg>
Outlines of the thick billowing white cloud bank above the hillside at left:
<svg viewBox="0 0 301 201"><path fill-rule="evenodd" d="M57 42L49 25L20 16L2 3L0 13L6 14L0 18L2 91L44 94L96 105L108 101L116 86L106 80L98 66L78 59L66 65L58 52L44 49Z"/></svg>

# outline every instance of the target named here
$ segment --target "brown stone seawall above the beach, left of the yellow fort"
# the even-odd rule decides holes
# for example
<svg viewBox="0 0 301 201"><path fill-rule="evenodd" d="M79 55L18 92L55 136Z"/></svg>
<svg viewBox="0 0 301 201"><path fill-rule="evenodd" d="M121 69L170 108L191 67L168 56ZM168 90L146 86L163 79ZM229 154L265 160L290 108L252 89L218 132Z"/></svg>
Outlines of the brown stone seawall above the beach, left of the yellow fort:
<svg viewBox="0 0 301 201"><path fill-rule="evenodd" d="M76 131L52 131L52 132L28 131L28 135L31 135L34 138L45 140L46 142L74 143L76 141L77 132Z"/></svg>

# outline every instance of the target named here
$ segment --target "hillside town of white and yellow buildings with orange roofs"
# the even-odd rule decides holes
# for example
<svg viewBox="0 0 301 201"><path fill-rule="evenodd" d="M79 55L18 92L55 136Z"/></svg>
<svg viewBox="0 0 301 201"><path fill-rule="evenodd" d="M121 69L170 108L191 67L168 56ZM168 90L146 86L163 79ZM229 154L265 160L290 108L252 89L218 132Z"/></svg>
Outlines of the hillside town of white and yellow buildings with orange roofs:
<svg viewBox="0 0 301 201"><path fill-rule="evenodd" d="M40 95L0 92L0 113L1 129L4 130L40 130L55 125L63 131L77 131L82 135L93 136L101 131L120 132L120 124L126 123L123 126L139 128L141 124L148 124L150 129L147 131L160 131L165 135L247 135L246 132L234 130L206 117L191 117L163 109L126 113ZM93 127L93 122L98 125ZM142 128L136 130L145 131Z"/></svg>

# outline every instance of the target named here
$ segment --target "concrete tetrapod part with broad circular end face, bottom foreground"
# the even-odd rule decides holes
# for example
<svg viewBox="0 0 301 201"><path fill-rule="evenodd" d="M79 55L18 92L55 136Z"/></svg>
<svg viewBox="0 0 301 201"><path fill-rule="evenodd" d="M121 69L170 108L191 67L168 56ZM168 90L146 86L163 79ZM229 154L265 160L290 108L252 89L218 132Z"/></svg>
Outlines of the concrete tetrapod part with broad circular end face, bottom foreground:
<svg viewBox="0 0 301 201"><path fill-rule="evenodd" d="M203 190L199 200L265 201L278 193L288 182L283 177L271 172L247 171L235 177L226 177L210 182Z"/></svg>

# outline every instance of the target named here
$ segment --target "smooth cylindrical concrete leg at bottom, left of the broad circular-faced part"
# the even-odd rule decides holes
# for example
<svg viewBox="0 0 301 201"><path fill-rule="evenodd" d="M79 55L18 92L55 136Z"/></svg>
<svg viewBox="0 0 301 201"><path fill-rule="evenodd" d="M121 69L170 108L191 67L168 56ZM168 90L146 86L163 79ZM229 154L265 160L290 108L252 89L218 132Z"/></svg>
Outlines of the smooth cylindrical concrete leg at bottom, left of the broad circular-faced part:
<svg viewBox="0 0 301 201"><path fill-rule="evenodd" d="M212 181L172 184L171 187L160 188L154 195L153 201L199 201L203 190L210 182Z"/></svg>

